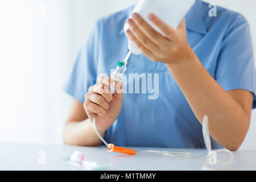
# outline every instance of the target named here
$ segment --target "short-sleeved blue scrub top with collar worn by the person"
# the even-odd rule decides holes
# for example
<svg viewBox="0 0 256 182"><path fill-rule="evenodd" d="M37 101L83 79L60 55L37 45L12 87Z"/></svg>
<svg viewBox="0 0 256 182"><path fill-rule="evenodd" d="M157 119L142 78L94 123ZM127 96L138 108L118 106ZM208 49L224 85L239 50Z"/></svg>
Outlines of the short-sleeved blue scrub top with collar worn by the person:
<svg viewBox="0 0 256 182"><path fill-rule="evenodd" d="M97 21L82 46L65 92L77 101L96 84L100 73L110 76L128 52L123 25L133 7ZM256 77L250 27L238 13L217 7L217 17L210 17L208 4L197 0L185 16L188 43L205 69L226 91L256 90ZM159 96L148 100L152 93L123 94L122 111L104 138L117 146L204 148L202 127L191 107L163 63L152 62L144 55L131 55L129 73L159 73ZM124 90L134 80L126 82ZM133 88L134 89L134 88ZM140 89L141 90L141 89ZM256 106L254 94L253 108ZM209 118L210 119L210 118ZM212 147L221 146L212 139Z"/></svg>

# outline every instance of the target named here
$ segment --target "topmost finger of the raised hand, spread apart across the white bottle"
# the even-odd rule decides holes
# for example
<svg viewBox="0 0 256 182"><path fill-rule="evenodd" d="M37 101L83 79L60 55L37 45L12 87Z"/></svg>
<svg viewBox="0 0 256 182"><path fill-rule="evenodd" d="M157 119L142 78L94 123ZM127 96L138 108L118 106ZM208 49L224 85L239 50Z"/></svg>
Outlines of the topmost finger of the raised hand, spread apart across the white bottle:
<svg viewBox="0 0 256 182"><path fill-rule="evenodd" d="M160 18L158 18L158 16L152 13L148 14L148 19L150 19L150 21L154 23L155 26L158 27L168 39L175 39L177 34L177 30L175 28L170 27L167 23L163 22Z"/></svg>

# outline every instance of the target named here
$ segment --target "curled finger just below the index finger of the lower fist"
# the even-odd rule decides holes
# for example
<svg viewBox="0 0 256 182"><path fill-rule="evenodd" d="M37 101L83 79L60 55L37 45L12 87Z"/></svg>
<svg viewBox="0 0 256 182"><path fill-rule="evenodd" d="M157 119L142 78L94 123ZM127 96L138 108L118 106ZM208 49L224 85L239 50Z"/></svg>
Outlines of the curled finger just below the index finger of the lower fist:
<svg viewBox="0 0 256 182"><path fill-rule="evenodd" d="M89 88L88 92L100 94L102 97L105 98L106 102L110 102L113 100L113 96L108 85L104 85L104 84L93 85Z"/></svg>

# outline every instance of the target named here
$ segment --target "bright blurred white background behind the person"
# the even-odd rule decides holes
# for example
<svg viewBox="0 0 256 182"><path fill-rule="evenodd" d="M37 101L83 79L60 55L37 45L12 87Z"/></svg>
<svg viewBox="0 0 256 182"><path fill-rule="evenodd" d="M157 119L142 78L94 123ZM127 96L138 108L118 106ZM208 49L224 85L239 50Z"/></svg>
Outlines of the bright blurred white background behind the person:
<svg viewBox="0 0 256 182"><path fill-rule="evenodd" d="M256 1L212 0L250 23ZM71 98L61 88L93 23L137 0L0 0L0 142L62 143ZM256 110L241 149L256 150Z"/></svg>

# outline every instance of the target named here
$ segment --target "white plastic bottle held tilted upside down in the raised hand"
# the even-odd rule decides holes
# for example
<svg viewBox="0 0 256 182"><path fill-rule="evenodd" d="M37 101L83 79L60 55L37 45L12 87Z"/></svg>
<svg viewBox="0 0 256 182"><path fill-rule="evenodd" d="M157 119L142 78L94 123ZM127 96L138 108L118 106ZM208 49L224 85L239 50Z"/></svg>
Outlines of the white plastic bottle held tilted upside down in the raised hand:
<svg viewBox="0 0 256 182"><path fill-rule="evenodd" d="M195 1L196 0L141 0L134 7L132 14L138 13L147 23L154 27L155 30L163 34L159 28L150 22L147 15L153 13L171 27L177 28ZM125 23L124 28L126 34L126 31L130 29L129 24ZM131 40L128 42L128 48L135 55L140 55L142 53Z"/></svg>

